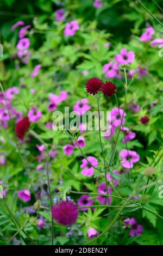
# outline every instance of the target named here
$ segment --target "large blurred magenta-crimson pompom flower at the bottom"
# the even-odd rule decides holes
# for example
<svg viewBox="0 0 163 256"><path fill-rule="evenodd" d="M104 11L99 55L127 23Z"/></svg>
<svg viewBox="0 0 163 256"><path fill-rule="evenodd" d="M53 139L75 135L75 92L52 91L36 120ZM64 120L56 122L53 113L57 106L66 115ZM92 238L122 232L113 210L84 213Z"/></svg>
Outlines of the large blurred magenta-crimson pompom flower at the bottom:
<svg viewBox="0 0 163 256"><path fill-rule="evenodd" d="M78 218L77 205L68 201L53 205L52 218L61 225L72 225Z"/></svg>

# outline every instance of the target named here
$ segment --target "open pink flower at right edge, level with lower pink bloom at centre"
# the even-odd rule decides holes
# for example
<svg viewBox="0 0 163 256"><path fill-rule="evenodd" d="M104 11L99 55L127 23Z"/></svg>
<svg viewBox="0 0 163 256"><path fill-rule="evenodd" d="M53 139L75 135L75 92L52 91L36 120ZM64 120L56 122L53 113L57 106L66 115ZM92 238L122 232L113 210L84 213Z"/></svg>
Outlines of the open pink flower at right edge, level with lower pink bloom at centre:
<svg viewBox="0 0 163 256"><path fill-rule="evenodd" d="M134 163L140 160L140 156L135 151L127 149L122 149L119 157L122 157L122 166L127 169L133 168Z"/></svg>

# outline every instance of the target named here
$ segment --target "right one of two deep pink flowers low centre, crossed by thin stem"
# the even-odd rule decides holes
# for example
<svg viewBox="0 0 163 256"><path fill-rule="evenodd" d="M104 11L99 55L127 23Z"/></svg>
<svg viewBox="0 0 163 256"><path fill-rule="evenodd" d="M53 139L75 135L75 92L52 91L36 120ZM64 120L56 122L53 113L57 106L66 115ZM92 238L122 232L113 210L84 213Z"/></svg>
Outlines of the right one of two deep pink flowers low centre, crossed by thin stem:
<svg viewBox="0 0 163 256"><path fill-rule="evenodd" d="M99 194L106 194L106 184L105 183L99 184L97 191L98 191ZM111 194L111 192L112 192L111 187L108 187L108 194ZM112 202L111 197L97 196L97 199L98 199L100 204L109 205Z"/></svg>

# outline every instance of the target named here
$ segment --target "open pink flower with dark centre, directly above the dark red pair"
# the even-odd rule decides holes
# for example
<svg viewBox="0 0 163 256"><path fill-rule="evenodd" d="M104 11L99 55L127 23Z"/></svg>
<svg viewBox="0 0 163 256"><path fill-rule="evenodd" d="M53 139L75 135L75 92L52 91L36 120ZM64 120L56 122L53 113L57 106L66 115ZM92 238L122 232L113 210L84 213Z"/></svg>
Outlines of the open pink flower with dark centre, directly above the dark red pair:
<svg viewBox="0 0 163 256"><path fill-rule="evenodd" d="M127 65L128 63L134 62L135 53L132 51L128 52L126 48L122 48L121 54L117 54L115 59L118 63Z"/></svg>

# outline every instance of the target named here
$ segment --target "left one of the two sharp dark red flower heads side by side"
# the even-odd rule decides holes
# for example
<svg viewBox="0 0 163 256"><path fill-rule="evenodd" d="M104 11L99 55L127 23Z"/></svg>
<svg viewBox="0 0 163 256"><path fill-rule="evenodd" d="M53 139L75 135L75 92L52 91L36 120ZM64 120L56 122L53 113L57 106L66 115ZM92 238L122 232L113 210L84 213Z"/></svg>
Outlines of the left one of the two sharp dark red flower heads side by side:
<svg viewBox="0 0 163 256"><path fill-rule="evenodd" d="M98 77L93 77L86 82L86 92L89 94L97 94L102 88L103 82Z"/></svg>

